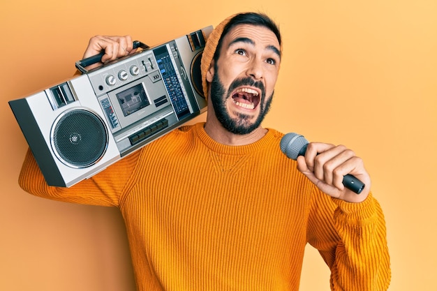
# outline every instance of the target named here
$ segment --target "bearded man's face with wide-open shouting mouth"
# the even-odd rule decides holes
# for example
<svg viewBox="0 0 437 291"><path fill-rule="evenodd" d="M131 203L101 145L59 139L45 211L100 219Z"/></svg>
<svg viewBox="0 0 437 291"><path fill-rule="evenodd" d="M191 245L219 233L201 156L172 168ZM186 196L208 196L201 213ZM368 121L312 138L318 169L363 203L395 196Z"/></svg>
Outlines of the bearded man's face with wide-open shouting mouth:
<svg viewBox="0 0 437 291"><path fill-rule="evenodd" d="M224 36L207 81L216 117L230 132L246 134L260 126L272 102L279 48L275 34L265 27L240 24Z"/></svg>

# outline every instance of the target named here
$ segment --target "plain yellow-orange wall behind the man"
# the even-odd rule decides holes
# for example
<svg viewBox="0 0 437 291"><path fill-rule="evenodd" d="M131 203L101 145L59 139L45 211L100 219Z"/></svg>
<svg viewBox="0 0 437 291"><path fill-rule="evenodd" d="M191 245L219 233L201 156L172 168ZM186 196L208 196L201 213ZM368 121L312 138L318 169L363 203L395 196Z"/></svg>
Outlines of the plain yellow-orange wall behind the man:
<svg viewBox="0 0 437 291"><path fill-rule="evenodd" d="M27 144L7 101L71 77L96 34L158 45L246 10L268 13L283 33L265 126L362 156L387 219L389 290L437 290L435 0L3 0L0 290L134 290L117 209L43 200L17 186ZM312 248L301 290L329 290Z"/></svg>

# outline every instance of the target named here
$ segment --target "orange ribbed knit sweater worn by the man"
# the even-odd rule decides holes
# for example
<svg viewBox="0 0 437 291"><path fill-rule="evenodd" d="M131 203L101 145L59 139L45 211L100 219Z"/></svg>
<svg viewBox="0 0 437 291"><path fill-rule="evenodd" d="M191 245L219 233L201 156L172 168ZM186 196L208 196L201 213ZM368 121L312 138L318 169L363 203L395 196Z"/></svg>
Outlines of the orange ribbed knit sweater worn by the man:
<svg viewBox="0 0 437 291"><path fill-rule="evenodd" d="M306 243L332 290L386 290L385 222L372 195L333 199L296 170L269 129L253 144L184 126L71 188L50 187L31 154L20 185L54 200L119 207L138 290L298 290ZM328 284L328 283L327 283Z"/></svg>

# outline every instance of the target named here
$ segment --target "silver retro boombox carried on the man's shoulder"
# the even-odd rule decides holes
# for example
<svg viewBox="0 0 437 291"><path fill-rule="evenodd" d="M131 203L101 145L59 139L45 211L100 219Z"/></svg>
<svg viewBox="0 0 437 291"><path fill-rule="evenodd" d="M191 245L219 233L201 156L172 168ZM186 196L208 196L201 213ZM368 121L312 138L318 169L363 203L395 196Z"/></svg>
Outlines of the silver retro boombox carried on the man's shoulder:
<svg viewBox="0 0 437 291"><path fill-rule="evenodd" d="M41 172L70 187L206 110L200 59L212 26L147 47L82 75L9 101Z"/></svg>

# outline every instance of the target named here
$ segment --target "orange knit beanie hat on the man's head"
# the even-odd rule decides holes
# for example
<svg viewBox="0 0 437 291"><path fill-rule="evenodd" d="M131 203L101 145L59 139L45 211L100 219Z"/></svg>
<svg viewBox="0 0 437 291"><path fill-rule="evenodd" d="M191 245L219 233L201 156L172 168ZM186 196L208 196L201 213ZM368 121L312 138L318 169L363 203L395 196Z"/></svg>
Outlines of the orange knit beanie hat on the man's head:
<svg viewBox="0 0 437 291"><path fill-rule="evenodd" d="M205 98L208 98L207 71L211 66L214 54L216 53L218 40L220 40L221 33L223 33L223 29L225 29L226 24L228 24L228 22L230 22L230 20L232 20L235 15L231 15L216 26L212 33L209 34L207 43L205 45L205 48L203 49L202 60L200 61L200 71L202 72L202 89Z"/></svg>

